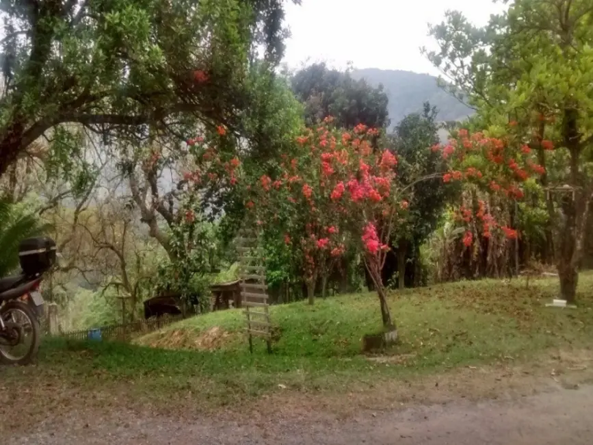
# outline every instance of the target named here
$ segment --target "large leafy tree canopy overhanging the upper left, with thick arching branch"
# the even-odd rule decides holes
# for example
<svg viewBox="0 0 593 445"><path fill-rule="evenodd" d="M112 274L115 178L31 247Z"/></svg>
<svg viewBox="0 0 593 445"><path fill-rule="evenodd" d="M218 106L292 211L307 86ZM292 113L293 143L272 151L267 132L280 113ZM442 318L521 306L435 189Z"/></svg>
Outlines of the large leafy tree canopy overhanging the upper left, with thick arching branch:
<svg viewBox="0 0 593 445"><path fill-rule="evenodd" d="M137 139L192 114L239 131L259 44L282 57L280 0L5 3L0 175L66 123Z"/></svg>

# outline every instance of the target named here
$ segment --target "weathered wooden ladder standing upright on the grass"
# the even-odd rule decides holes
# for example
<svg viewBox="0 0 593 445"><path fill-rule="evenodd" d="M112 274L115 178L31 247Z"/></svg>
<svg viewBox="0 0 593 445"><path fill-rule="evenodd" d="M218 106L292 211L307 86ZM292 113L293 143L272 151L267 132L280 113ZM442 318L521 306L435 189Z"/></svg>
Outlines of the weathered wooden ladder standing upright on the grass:
<svg viewBox="0 0 593 445"><path fill-rule="evenodd" d="M267 344L267 352L272 353L265 260L259 252L258 238L253 230L241 229L235 242L239 253L241 305L245 307L249 351L253 353L253 337L260 337Z"/></svg>

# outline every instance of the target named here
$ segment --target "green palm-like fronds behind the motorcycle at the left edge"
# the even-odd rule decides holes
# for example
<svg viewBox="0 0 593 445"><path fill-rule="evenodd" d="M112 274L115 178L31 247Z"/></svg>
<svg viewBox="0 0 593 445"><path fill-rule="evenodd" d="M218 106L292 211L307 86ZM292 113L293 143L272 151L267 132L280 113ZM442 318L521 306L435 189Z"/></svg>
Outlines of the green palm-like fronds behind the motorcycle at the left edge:
<svg viewBox="0 0 593 445"><path fill-rule="evenodd" d="M42 235L49 229L27 209L0 199L0 277L18 268L18 244L25 238Z"/></svg>

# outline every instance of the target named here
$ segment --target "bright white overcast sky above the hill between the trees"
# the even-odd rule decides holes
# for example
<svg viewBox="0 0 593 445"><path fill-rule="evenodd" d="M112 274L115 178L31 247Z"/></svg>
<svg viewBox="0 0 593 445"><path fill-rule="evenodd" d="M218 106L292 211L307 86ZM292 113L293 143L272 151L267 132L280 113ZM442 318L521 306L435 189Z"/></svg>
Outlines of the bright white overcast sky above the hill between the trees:
<svg viewBox="0 0 593 445"><path fill-rule="evenodd" d="M325 61L337 68L381 68L438 75L419 48L434 47L428 23L460 10L475 25L503 10L492 0L302 0L289 3L285 62L291 68Z"/></svg>

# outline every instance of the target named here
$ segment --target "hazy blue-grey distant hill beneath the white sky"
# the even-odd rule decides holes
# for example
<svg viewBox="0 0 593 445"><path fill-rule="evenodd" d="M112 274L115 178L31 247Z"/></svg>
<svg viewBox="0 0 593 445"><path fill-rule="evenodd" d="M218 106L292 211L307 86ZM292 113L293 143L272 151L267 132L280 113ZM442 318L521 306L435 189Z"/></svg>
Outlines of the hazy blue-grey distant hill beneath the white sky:
<svg viewBox="0 0 593 445"><path fill-rule="evenodd" d="M388 111L391 126L406 114L420 112L422 104L429 101L438 109L438 120L461 120L473 110L451 97L436 84L436 77L410 71L365 68L354 70L352 77L365 78L372 86L383 84L389 98Z"/></svg>

